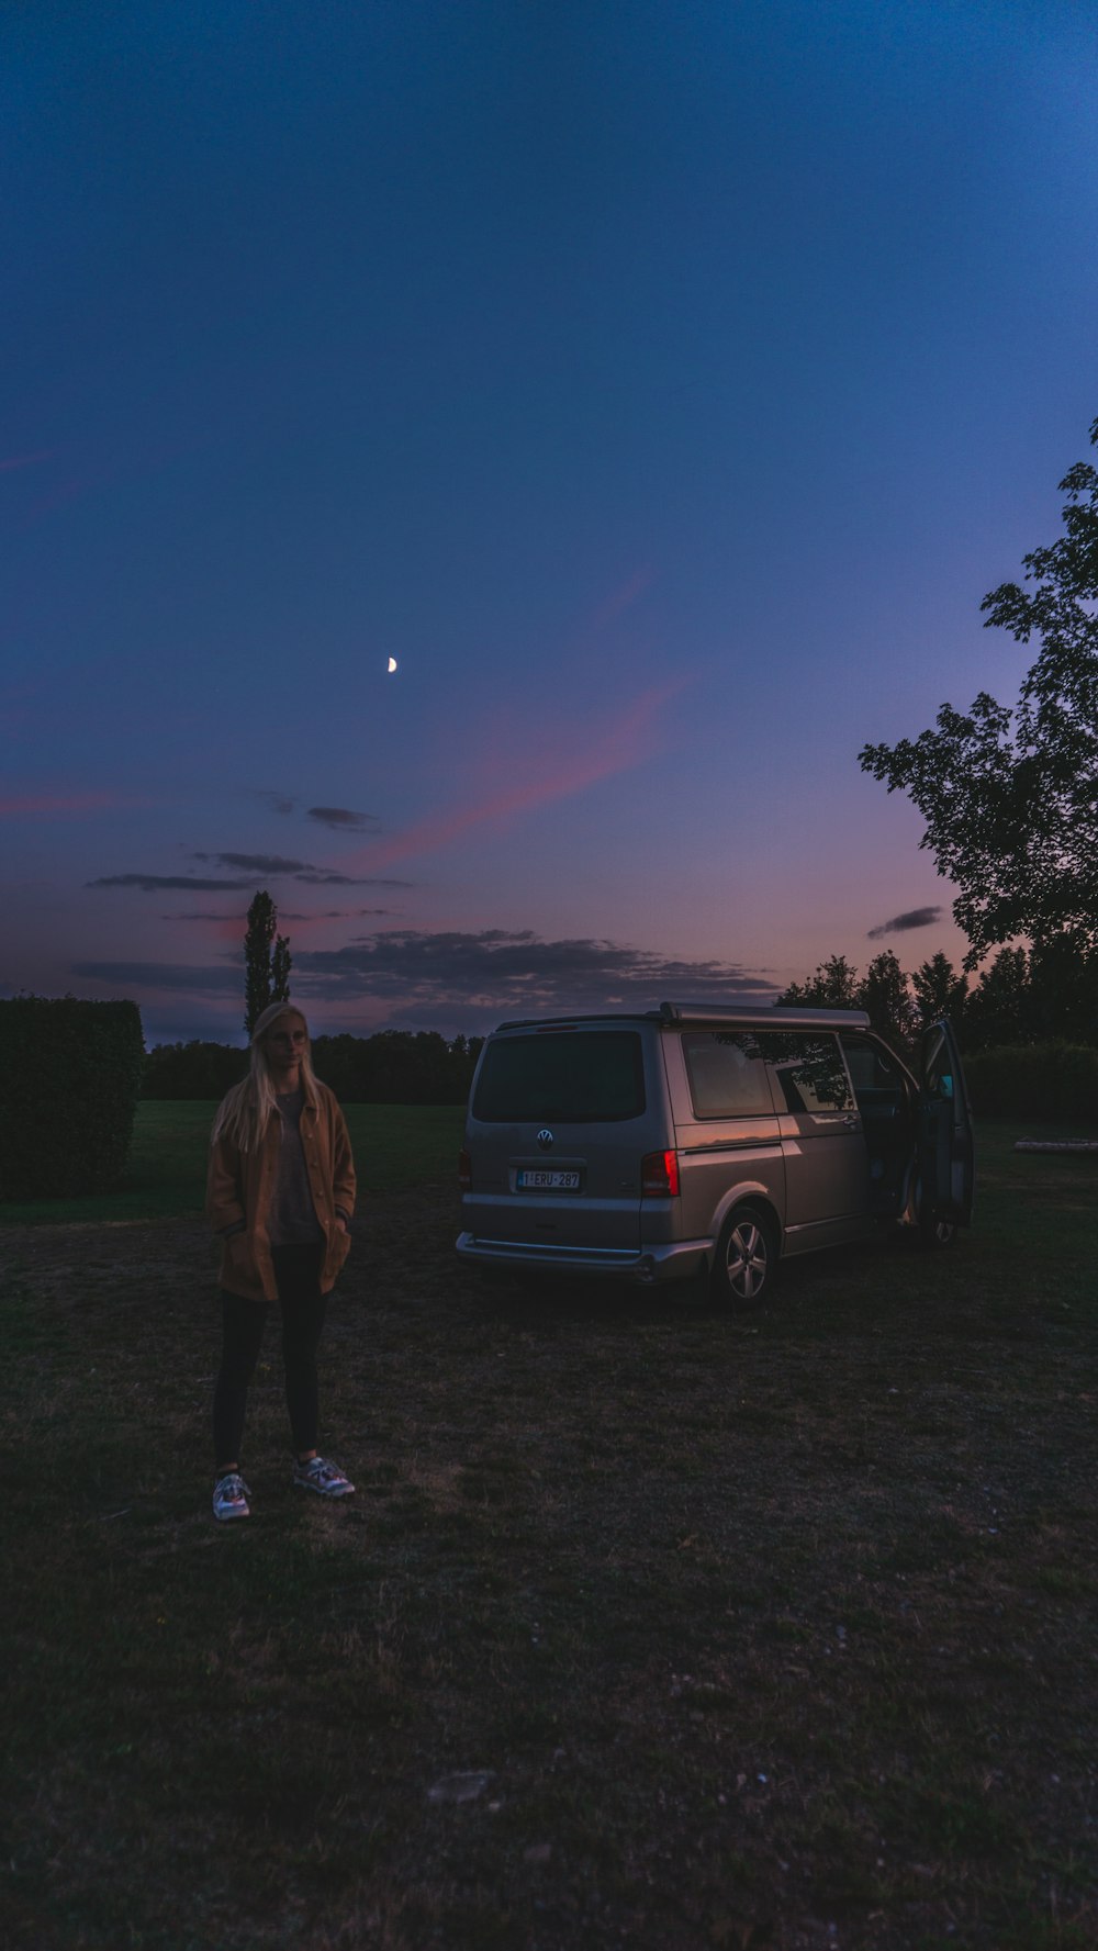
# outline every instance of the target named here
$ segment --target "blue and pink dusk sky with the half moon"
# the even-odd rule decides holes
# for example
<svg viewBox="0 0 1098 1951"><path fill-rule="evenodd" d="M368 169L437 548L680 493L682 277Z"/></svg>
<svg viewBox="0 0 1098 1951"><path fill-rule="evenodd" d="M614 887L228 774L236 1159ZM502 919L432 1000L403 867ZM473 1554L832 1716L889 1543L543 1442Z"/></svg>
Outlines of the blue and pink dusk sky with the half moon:
<svg viewBox="0 0 1098 1951"><path fill-rule="evenodd" d="M1096 27L8 8L0 993L238 1042L257 888L316 1032L960 962L856 755L1032 656Z"/></svg>

